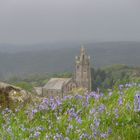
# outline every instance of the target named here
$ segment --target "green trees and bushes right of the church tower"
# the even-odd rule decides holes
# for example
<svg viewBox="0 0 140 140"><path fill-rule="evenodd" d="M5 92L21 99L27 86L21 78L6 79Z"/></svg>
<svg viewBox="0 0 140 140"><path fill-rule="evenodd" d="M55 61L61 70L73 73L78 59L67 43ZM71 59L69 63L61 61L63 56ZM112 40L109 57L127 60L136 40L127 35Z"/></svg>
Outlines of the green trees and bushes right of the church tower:
<svg viewBox="0 0 140 140"><path fill-rule="evenodd" d="M92 69L93 89L112 88L114 85L125 84L126 81L140 82L140 68L126 65L113 65L100 69Z"/></svg>

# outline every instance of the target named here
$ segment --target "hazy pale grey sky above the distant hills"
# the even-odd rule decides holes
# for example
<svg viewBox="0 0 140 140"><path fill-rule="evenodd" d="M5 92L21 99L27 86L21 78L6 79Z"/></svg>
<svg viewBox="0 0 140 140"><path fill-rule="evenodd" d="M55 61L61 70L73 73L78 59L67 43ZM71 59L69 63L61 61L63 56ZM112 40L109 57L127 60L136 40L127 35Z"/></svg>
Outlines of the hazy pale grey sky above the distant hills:
<svg viewBox="0 0 140 140"><path fill-rule="evenodd" d="M0 43L140 41L140 0L0 0Z"/></svg>

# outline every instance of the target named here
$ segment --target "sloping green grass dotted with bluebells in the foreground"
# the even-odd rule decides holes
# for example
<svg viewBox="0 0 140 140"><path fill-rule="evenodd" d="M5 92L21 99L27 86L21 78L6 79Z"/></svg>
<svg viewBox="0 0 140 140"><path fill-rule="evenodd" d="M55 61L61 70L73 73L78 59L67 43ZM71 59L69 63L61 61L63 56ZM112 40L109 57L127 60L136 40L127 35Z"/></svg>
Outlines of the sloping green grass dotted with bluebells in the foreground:
<svg viewBox="0 0 140 140"><path fill-rule="evenodd" d="M138 140L140 85L44 99L30 111L5 109L0 115L0 139Z"/></svg>

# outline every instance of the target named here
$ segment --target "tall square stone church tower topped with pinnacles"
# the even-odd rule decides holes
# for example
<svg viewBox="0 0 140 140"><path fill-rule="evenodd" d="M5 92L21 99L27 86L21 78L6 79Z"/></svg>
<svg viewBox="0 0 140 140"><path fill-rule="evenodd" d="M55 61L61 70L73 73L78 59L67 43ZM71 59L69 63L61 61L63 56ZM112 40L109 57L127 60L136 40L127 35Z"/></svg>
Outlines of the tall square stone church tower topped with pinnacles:
<svg viewBox="0 0 140 140"><path fill-rule="evenodd" d="M86 54L82 46L80 56L75 57L75 82L78 87L91 91L91 67L90 56Z"/></svg>

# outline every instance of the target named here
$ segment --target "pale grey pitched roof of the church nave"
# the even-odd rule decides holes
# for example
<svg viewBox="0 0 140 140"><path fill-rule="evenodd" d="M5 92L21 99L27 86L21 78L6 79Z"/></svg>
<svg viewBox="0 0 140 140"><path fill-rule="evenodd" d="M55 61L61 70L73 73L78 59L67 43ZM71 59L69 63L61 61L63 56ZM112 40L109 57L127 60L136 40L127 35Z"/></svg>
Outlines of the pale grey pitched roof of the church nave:
<svg viewBox="0 0 140 140"><path fill-rule="evenodd" d="M45 89L61 90L64 84L67 84L72 78L51 78L44 86Z"/></svg>

